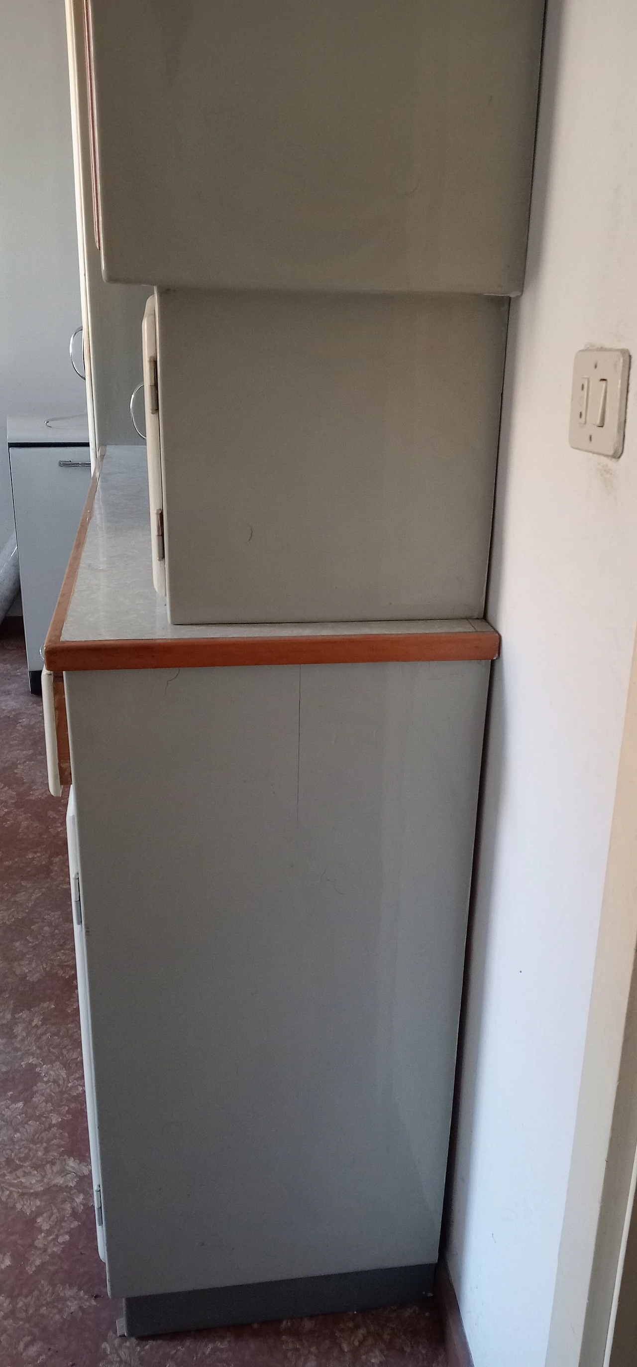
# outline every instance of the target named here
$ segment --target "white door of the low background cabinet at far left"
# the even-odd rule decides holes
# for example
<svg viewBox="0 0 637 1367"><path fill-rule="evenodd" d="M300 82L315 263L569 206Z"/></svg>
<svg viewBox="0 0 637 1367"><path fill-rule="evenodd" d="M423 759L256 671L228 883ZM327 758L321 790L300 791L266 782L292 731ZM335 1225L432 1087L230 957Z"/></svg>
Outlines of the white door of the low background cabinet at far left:
<svg viewBox="0 0 637 1367"><path fill-rule="evenodd" d="M89 492L89 447L12 447L10 462L26 658L30 670L41 670L40 651Z"/></svg>

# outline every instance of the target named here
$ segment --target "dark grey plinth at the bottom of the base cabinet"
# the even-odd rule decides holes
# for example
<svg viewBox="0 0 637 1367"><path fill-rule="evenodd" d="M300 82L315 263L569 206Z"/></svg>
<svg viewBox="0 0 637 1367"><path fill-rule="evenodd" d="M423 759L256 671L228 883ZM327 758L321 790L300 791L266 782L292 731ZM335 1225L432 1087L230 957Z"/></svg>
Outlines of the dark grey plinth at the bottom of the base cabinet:
<svg viewBox="0 0 637 1367"><path fill-rule="evenodd" d="M127 1296L124 1331L134 1338L220 1325L252 1325L264 1319L298 1319L349 1310L409 1305L431 1296L435 1263L383 1267L368 1273L299 1277L291 1281L217 1286L208 1290Z"/></svg>

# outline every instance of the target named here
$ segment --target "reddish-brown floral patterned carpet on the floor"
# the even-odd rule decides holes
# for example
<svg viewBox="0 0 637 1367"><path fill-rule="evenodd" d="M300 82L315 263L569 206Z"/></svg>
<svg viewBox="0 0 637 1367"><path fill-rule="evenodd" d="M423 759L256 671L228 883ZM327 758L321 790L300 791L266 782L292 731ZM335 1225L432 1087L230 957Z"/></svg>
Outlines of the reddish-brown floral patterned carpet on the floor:
<svg viewBox="0 0 637 1367"><path fill-rule="evenodd" d="M0 1363L444 1367L433 1310L118 1338L97 1256L66 853L41 700L0 637Z"/></svg>

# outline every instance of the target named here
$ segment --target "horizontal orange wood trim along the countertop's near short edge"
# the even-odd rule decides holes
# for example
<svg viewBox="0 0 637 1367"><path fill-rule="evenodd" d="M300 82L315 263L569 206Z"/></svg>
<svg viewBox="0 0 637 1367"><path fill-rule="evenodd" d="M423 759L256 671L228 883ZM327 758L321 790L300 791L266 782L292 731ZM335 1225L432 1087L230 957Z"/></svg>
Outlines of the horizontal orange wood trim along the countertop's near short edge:
<svg viewBox="0 0 637 1367"><path fill-rule="evenodd" d="M74 552L75 554L75 552ZM68 571L67 571L68 574ZM63 586L64 592L64 586ZM62 593L60 593L62 601ZM57 608L56 608L57 611ZM390 660L495 660L500 637L470 632L369 636L198 637L168 641L62 641L46 637L46 667L60 670L219 668L231 664L366 664Z"/></svg>

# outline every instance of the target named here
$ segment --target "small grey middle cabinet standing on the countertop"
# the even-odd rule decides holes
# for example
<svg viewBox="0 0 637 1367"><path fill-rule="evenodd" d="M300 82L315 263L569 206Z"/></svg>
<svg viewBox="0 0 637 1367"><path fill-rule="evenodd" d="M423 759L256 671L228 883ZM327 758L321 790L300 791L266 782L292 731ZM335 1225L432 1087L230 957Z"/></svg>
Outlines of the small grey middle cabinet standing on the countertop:
<svg viewBox="0 0 637 1367"><path fill-rule="evenodd" d="M148 313L171 622L483 614L507 299L165 290Z"/></svg>

